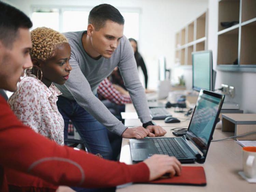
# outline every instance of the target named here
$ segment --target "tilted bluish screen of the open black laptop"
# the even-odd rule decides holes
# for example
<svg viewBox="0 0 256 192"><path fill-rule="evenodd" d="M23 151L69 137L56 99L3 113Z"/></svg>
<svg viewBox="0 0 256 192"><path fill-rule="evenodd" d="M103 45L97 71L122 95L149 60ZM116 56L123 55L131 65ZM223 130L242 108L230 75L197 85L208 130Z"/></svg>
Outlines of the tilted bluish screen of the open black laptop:
<svg viewBox="0 0 256 192"><path fill-rule="evenodd" d="M224 95L201 90L186 136L206 155Z"/></svg>

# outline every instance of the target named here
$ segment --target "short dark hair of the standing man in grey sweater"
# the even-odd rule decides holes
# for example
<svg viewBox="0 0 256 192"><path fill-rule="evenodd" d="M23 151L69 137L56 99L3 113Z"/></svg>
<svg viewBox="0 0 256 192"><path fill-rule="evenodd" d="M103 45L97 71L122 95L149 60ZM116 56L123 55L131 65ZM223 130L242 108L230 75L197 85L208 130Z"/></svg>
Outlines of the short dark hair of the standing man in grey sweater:
<svg viewBox="0 0 256 192"><path fill-rule="evenodd" d="M88 24L93 24L96 30L104 27L107 20L124 25L125 19L121 13L110 4L100 4L95 6L89 14Z"/></svg>

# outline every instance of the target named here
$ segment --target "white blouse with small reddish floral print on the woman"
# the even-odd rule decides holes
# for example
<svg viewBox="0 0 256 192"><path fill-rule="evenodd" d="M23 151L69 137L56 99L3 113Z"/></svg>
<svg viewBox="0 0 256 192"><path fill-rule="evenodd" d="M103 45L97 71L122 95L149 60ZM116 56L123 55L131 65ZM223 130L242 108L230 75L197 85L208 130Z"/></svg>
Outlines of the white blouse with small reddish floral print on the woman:
<svg viewBox="0 0 256 192"><path fill-rule="evenodd" d="M42 81L26 70L27 77L8 102L14 114L35 132L64 145L64 121L57 108L62 93L52 83L48 88Z"/></svg>

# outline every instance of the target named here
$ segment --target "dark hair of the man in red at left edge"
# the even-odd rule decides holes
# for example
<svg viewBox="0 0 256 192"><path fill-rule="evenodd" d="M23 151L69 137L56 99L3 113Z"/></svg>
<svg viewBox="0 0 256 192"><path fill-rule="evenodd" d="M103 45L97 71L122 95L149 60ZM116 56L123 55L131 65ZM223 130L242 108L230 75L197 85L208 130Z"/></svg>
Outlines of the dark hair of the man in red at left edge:
<svg viewBox="0 0 256 192"><path fill-rule="evenodd" d="M0 41L12 47L19 28L31 28L32 22L25 13L0 1Z"/></svg>

